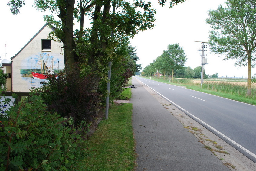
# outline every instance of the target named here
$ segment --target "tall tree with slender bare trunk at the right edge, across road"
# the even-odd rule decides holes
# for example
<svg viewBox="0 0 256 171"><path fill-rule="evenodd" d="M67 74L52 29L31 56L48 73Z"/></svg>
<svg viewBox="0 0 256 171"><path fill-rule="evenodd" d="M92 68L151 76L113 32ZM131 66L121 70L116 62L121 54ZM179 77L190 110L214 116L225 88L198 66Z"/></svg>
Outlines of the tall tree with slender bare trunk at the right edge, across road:
<svg viewBox="0 0 256 171"><path fill-rule="evenodd" d="M213 29L209 34L213 53L235 59L235 66L248 66L247 96L251 96L251 68L255 66L256 1L228 0L226 7L208 11L206 20Z"/></svg>

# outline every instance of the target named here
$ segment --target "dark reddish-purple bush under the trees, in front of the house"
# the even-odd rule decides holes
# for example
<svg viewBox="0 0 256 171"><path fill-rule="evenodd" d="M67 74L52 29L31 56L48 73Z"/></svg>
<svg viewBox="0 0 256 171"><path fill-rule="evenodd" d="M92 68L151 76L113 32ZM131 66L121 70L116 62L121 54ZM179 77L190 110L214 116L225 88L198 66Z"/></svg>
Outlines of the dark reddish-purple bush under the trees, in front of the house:
<svg viewBox="0 0 256 171"><path fill-rule="evenodd" d="M91 75L80 76L79 73L76 70L58 73L57 77L50 75L48 82L35 89L40 92L48 111L74 117L75 124L90 121L100 106L100 94L93 89L95 80Z"/></svg>

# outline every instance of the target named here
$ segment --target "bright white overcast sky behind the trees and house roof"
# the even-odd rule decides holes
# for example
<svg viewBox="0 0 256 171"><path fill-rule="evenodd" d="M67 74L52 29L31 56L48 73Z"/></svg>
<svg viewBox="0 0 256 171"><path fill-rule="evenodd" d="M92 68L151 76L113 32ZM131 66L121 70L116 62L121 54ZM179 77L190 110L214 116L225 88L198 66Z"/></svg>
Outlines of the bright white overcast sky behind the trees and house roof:
<svg viewBox="0 0 256 171"><path fill-rule="evenodd" d="M31 6L33 1L27 0L20 14L13 15L7 6L8 1L0 1L0 56L10 60L44 26L45 13L38 12ZM202 44L195 41L208 41L211 28L205 21L207 11L224 5L225 0L186 0L171 9L168 4L161 7L156 0L150 1L157 12L155 27L130 39L130 45L136 47L139 56L137 64L142 64L144 68L167 50L169 44L179 43L187 57L185 66L192 69L201 66L198 50ZM219 77L247 77L247 67L235 67L235 60L223 61L224 56L210 53L209 48L206 50L208 64L204 65L204 69L207 75L218 73ZM255 73L253 68L252 75Z"/></svg>

